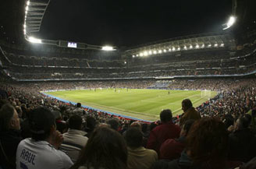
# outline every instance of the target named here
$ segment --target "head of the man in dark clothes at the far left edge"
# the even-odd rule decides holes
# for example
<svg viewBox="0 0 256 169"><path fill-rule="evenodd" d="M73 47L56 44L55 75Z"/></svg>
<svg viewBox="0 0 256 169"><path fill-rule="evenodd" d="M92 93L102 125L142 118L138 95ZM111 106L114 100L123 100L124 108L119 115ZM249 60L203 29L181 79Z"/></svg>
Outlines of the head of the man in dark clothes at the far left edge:
<svg viewBox="0 0 256 169"><path fill-rule="evenodd" d="M10 129L20 130L20 118L15 107L4 104L0 109L0 131L6 132Z"/></svg>

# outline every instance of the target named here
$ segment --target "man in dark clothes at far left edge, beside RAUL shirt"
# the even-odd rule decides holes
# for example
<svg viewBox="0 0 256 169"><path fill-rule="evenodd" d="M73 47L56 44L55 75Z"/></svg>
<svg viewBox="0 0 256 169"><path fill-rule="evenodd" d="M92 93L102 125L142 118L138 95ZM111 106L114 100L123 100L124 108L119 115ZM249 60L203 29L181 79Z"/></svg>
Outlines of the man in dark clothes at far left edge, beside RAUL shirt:
<svg viewBox="0 0 256 169"><path fill-rule="evenodd" d="M16 168L20 140L19 115L11 104L4 104L0 109L0 164L3 169Z"/></svg>

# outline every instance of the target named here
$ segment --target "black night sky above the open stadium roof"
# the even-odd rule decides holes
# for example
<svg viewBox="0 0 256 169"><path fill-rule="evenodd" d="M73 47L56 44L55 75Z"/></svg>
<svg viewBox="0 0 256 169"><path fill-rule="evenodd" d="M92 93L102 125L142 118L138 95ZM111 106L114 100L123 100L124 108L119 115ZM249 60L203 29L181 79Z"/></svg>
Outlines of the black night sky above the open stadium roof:
<svg viewBox="0 0 256 169"><path fill-rule="evenodd" d="M132 47L222 30L232 0L52 0L37 37Z"/></svg>

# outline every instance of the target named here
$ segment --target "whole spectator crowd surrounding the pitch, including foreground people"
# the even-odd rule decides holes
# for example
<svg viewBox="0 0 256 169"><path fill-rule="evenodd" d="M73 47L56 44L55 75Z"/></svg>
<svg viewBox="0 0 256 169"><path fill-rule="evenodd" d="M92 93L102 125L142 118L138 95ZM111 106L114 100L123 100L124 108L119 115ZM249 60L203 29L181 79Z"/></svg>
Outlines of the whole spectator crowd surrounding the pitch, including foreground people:
<svg viewBox="0 0 256 169"><path fill-rule="evenodd" d="M97 86L95 86L97 84ZM254 79L177 80L172 89L208 87L219 94L183 114L133 121L46 97L41 90L77 86L147 88L152 80L10 83L0 86L0 167L5 168L255 168ZM249 113L248 113L249 112Z"/></svg>

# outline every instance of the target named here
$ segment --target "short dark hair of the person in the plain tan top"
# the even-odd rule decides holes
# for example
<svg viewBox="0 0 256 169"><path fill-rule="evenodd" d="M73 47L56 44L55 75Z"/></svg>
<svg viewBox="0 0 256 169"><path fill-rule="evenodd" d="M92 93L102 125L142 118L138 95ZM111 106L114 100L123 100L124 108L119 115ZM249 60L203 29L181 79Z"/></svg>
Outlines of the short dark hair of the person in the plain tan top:
<svg viewBox="0 0 256 169"><path fill-rule="evenodd" d="M137 127L128 129L124 138L126 139L127 146L137 148L142 145L143 135Z"/></svg>

